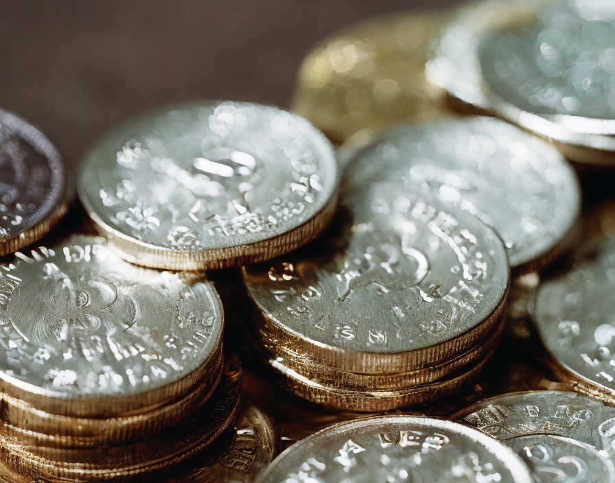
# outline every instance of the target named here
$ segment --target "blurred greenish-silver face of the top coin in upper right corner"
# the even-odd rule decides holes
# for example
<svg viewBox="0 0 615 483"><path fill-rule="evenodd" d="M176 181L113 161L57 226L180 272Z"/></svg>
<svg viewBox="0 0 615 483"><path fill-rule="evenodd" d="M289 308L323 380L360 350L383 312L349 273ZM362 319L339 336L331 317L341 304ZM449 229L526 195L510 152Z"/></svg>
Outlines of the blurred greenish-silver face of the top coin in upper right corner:
<svg viewBox="0 0 615 483"><path fill-rule="evenodd" d="M480 42L489 89L521 110L577 132L615 133L615 8L610 0L564 0L537 21Z"/></svg>

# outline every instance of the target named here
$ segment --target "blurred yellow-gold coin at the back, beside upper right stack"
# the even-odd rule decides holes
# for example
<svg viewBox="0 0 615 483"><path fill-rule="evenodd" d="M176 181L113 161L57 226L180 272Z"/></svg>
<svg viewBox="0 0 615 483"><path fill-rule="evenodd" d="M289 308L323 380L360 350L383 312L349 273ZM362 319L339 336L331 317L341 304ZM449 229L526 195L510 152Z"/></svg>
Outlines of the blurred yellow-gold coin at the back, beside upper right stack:
<svg viewBox="0 0 615 483"><path fill-rule="evenodd" d="M440 23L441 14L393 14L323 40L301 64L292 110L335 141L398 119L440 115L423 56Z"/></svg>

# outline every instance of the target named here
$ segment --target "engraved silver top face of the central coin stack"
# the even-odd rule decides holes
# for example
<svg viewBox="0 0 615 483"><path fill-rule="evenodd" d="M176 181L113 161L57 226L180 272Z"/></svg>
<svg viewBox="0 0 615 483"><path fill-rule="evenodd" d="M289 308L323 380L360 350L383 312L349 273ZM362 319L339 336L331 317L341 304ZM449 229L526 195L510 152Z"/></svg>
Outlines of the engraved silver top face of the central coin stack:
<svg viewBox="0 0 615 483"><path fill-rule="evenodd" d="M244 268L270 325L319 351L406 353L460 336L500 307L509 265L478 218L399 182L347 185L342 198L318 242Z"/></svg>

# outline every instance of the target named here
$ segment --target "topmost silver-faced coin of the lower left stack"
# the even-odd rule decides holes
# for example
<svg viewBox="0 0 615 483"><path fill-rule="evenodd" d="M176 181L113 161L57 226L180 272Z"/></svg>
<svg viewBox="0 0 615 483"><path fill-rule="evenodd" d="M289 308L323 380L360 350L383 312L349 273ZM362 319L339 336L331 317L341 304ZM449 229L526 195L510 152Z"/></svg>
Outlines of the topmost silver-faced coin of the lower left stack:
<svg viewBox="0 0 615 483"><path fill-rule="evenodd" d="M146 412L216 366L222 305L197 273L133 266L73 235L0 266L2 393L74 417Z"/></svg>

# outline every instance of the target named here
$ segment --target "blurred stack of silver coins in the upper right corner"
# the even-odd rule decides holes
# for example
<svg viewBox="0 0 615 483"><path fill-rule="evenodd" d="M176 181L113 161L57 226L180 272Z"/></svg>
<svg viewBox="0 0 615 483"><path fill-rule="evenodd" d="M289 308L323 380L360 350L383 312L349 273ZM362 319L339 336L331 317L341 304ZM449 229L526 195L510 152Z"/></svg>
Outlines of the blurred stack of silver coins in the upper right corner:
<svg viewBox="0 0 615 483"><path fill-rule="evenodd" d="M443 27L428 78L465 107L550 139L574 161L610 165L614 38L610 0L482 1Z"/></svg>

